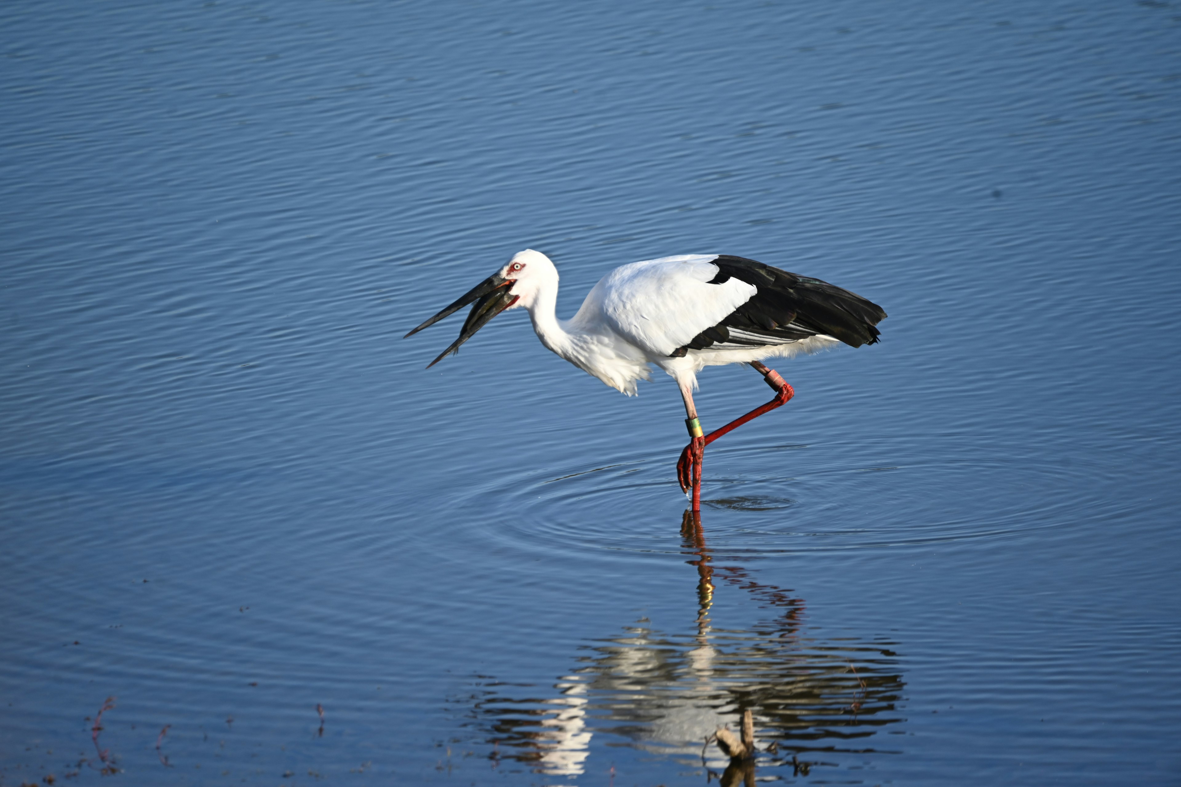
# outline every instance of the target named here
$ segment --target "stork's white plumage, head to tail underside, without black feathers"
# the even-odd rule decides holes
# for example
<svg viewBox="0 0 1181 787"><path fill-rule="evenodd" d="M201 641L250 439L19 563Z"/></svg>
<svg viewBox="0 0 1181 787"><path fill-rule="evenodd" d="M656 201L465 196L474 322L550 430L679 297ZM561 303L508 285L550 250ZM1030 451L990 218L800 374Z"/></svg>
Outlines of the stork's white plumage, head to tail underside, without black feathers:
<svg viewBox="0 0 1181 787"><path fill-rule="evenodd" d="M517 276L510 291L520 300L508 308L529 311L542 345L628 396L638 393L637 382L651 379L653 365L678 385L696 389L697 373L706 366L749 363L840 343L818 334L778 345L716 343L673 358L678 347L722 322L757 291L738 278L710 284L718 275L718 265L711 262L717 256L687 254L620 265L599 280L569 320L555 314L557 269L549 257L526 249L502 275ZM513 264L523 268L513 273ZM523 276L524 271L530 273Z"/></svg>

